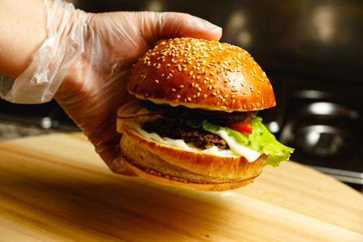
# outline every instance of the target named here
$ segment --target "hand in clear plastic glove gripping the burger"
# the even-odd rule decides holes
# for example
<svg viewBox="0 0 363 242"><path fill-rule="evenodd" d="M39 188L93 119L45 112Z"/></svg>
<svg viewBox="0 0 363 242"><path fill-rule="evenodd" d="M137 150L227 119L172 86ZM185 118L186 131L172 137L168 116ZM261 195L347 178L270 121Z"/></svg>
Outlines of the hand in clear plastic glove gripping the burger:
<svg viewBox="0 0 363 242"><path fill-rule="evenodd" d="M41 101L56 91L55 100L111 170L132 174L120 157L120 135L115 131L117 109L132 98L126 87L132 64L159 39L218 40L221 28L176 12L91 14L75 10L70 3L45 3L48 39L20 77L40 84Z"/></svg>

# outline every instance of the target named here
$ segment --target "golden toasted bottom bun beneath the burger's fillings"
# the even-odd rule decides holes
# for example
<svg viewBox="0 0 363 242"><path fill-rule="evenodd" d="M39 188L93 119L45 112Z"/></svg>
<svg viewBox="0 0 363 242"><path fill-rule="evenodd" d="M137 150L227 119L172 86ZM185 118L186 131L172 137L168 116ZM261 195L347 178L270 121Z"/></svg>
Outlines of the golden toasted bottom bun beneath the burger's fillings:
<svg viewBox="0 0 363 242"><path fill-rule="evenodd" d="M189 151L149 140L122 122L120 149L128 167L144 178L162 185L192 187L203 191L225 191L252 183L267 156L254 162L243 156L218 156Z"/></svg>

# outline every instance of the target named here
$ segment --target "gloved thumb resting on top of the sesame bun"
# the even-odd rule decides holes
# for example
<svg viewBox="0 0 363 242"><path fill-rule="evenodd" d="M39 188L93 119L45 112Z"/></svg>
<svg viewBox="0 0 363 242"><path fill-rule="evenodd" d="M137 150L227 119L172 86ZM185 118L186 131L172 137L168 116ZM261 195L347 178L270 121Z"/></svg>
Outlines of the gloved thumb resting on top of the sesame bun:
<svg viewBox="0 0 363 242"><path fill-rule="evenodd" d="M186 13L139 12L138 17L138 28L149 44L173 37L219 40L222 36L221 27Z"/></svg>

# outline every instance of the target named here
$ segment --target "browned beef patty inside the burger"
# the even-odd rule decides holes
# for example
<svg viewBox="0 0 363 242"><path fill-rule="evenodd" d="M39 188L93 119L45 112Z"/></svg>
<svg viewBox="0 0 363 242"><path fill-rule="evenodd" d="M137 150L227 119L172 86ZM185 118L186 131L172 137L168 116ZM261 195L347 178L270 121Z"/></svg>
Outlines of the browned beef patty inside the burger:
<svg viewBox="0 0 363 242"><path fill-rule="evenodd" d="M143 124L142 129L147 133L158 133L161 137L172 139L182 139L186 143L192 143L194 146L207 149L216 146L219 149L228 149L227 142L214 133L205 130L192 129L179 122L168 120L156 120Z"/></svg>

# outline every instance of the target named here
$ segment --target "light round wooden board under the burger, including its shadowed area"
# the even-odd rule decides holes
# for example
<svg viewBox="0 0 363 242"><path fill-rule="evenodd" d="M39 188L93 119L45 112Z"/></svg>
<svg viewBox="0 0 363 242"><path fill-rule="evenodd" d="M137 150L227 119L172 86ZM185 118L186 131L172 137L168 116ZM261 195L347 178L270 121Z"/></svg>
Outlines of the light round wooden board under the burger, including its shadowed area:
<svg viewBox="0 0 363 242"><path fill-rule="evenodd" d="M0 143L0 241L363 241L363 196L295 162L229 192L165 187L53 134Z"/></svg>

